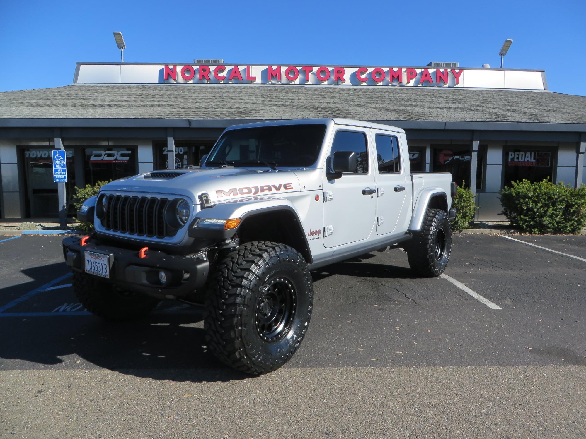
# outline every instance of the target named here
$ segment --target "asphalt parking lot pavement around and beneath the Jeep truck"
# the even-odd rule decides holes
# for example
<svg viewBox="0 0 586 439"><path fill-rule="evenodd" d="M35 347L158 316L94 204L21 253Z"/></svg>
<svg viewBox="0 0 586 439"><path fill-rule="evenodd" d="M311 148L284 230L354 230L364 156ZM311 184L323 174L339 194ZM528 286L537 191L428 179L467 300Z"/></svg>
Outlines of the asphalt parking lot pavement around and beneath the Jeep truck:
<svg viewBox="0 0 586 439"><path fill-rule="evenodd" d="M316 270L302 347L257 378L200 308L104 323L62 237L0 237L0 437L585 437L586 236L511 237L454 235L448 277L398 250Z"/></svg>

